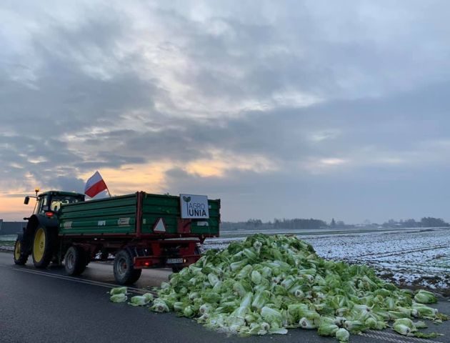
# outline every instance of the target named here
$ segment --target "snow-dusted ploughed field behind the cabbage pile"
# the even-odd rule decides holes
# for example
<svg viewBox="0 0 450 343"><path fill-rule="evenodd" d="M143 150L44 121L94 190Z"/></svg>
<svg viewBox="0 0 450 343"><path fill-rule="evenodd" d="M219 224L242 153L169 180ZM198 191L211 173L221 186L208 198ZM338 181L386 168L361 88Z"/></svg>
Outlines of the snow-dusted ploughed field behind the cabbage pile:
<svg viewBox="0 0 450 343"><path fill-rule="evenodd" d="M399 285L450 292L450 229L405 229L329 235L301 235L325 259L367 264ZM243 237L207 239L204 249L223 249Z"/></svg>

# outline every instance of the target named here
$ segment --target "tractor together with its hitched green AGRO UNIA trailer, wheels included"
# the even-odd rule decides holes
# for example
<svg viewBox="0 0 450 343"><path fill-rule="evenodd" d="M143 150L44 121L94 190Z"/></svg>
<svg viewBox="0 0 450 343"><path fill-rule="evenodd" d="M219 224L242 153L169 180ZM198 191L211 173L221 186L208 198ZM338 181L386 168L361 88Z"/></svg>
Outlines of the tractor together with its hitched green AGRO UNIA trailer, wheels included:
<svg viewBox="0 0 450 343"><path fill-rule="evenodd" d="M136 192L84 201L60 191L36 199L16 241L16 264L31 254L35 267L64 262L67 274L78 275L93 260L114 259L116 282L132 284L143 268L178 271L196 262L204 239L219 237L220 199Z"/></svg>

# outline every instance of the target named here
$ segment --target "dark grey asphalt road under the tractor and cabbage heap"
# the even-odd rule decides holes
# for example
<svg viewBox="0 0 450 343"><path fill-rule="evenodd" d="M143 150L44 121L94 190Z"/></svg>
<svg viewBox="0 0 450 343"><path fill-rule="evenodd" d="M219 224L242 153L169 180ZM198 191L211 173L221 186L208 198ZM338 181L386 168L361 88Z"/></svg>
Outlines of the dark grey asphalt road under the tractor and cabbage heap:
<svg viewBox="0 0 450 343"><path fill-rule="evenodd" d="M144 270L135 292L145 292L167 279L169 270ZM82 277L66 277L64 268L18 267L12 254L0 252L0 342L337 342L316 330L290 329L286 335L228 337L174 314L155 314L144 307L109 302L114 287L112 267L91 263ZM450 314L450 302L437 306ZM402 337L390 330L352 335L354 343L450 342L450 322L430 324L437 339Z"/></svg>

